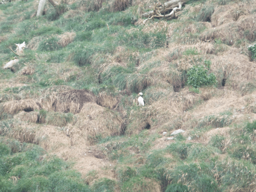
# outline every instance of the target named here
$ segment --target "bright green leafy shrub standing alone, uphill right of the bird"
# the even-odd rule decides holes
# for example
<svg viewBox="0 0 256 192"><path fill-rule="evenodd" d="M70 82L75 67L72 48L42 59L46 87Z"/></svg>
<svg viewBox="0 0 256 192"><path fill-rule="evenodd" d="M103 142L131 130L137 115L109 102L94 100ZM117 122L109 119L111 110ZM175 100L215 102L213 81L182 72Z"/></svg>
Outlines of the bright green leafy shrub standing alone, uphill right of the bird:
<svg viewBox="0 0 256 192"><path fill-rule="evenodd" d="M216 76L213 73L208 75L207 72L204 66L193 66L186 74L187 84L195 88L216 84Z"/></svg>

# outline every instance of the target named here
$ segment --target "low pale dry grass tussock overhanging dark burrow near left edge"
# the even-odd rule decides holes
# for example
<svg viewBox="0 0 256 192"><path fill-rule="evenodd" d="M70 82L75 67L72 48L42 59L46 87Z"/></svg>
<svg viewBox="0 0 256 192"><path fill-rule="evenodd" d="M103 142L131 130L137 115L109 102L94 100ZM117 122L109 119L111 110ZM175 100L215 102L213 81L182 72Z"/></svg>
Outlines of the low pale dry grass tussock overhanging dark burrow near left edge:
<svg viewBox="0 0 256 192"><path fill-rule="evenodd" d="M40 105L32 99L9 101L3 104L3 111L10 114L15 114L18 111L35 111L40 108Z"/></svg>

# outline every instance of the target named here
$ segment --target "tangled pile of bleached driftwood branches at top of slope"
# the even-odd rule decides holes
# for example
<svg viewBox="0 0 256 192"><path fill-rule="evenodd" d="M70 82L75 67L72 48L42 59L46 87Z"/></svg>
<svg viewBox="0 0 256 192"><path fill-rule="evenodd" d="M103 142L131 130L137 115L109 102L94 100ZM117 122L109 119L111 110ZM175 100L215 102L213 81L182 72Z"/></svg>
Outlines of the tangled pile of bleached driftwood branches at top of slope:
<svg viewBox="0 0 256 192"><path fill-rule="evenodd" d="M172 15L175 16L175 12L180 11L183 4L185 4L188 0L171 0L164 4L156 3L154 10L150 12L144 13L143 17L148 17L143 21L143 24L145 24L148 20L156 18L165 18L165 17L171 17ZM170 13L166 14L166 12L171 11Z"/></svg>

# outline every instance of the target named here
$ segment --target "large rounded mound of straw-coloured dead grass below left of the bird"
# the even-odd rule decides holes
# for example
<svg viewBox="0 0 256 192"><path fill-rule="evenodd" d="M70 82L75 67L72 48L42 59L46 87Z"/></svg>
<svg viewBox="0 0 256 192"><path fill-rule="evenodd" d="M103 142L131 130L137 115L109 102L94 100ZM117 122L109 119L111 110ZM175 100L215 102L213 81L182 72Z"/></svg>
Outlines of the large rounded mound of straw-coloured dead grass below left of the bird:
<svg viewBox="0 0 256 192"><path fill-rule="evenodd" d="M104 138L122 134L122 118L119 114L95 102L85 103L81 112L76 116L76 124L67 127L73 144L93 145L96 142L96 136Z"/></svg>

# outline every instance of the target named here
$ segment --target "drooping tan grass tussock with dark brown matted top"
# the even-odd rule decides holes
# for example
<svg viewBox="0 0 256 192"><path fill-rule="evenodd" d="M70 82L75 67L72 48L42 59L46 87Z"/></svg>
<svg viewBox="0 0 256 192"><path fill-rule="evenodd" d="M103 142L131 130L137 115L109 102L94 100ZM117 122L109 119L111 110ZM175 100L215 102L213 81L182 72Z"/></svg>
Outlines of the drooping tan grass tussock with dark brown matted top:
<svg viewBox="0 0 256 192"><path fill-rule="evenodd" d="M54 111L63 113L79 113L84 103L96 103L95 96L89 90L69 90L58 93L55 102L52 104Z"/></svg>

